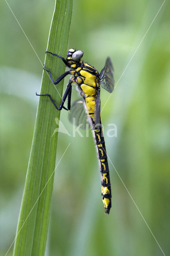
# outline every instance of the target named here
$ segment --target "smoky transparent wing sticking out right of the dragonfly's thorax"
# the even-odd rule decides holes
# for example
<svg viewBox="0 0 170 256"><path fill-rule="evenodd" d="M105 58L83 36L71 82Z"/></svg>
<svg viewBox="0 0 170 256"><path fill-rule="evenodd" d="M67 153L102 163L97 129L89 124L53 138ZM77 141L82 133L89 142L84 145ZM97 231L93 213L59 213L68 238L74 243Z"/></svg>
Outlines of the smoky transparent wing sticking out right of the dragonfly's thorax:
<svg viewBox="0 0 170 256"><path fill-rule="evenodd" d="M108 92L112 92L114 89L114 78L113 78L113 66L110 57L106 59L106 64L100 72L100 84Z"/></svg>

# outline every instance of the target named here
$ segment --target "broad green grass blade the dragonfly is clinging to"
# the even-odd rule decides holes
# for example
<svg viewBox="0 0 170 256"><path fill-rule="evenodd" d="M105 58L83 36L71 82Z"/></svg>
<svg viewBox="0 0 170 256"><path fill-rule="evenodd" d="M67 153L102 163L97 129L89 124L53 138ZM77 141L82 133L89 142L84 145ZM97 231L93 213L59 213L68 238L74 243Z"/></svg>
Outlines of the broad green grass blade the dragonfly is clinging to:
<svg viewBox="0 0 170 256"><path fill-rule="evenodd" d="M72 5L73 0L57 0L50 27L47 50L60 54L61 56L66 56L67 52ZM52 76L55 78L58 78L65 70L62 60L51 54L46 54L45 67L48 70L52 70ZM44 71L41 94L51 94L59 106L63 81L56 88L52 84L48 74ZM60 118L60 112L54 108L50 99L48 97L40 97L16 232L14 256L42 256L45 252L54 180L54 174L52 175L52 172L55 169L58 135L55 133L52 136L56 128L56 117L58 119ZM51 175L52 177L50 178ZM46 185L49 178L50 180ZM39 196L40 198L38 199Z"/></svg>

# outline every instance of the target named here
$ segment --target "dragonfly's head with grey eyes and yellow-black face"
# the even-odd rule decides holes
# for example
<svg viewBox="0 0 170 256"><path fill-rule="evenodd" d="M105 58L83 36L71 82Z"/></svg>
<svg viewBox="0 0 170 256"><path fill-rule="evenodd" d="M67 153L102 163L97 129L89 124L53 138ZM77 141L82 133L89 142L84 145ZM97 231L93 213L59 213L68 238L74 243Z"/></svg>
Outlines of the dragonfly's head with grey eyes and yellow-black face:
<svg viewBox="0 0 170 256"><path fill-rule="evenodd" d="M77 68L82 63L83 52L82 51L76 51L74 49L70 49L67 52L67 62L70 65L70 68Z"/></svg>

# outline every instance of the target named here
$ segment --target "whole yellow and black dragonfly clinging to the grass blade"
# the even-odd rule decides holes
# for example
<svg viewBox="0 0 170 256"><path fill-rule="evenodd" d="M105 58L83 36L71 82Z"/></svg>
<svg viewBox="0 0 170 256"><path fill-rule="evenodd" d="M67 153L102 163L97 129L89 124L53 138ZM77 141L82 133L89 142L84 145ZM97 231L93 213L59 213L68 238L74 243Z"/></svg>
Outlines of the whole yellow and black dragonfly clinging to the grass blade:
<svg viewBox="0 0 170 256"><path fill-rule="evenodd" d="M91 126L94 141L96 144L97 155L100 163L101 185L102 185L102 201L104 203L104 212L109 214L112 206L111 198L111 184L109 175L108 158L106 153L106 146L104 135L102 131L102 122L100 117L100 86L112 93L114 90L113 66L110 57L106 59L104 68L99 73L96 68L84 63L82 60L83 52L81 50L70 49L67 52L66 59L62 56L48 52L59 57L66 67L70 68L62 74L57 80L53 80L51 71L48 72L53 84L58 84L65 76L71 75L64 96L59 107L52 99L50 94L37 94L37 96L48 96L57 110L70 110L69 119L76 117L76 125L83 124L82 128L86 126L88 117L89 126ZM76 100L71 107L71 93L72 84L75 84L80 92L82 98ZM67 108L64 106L68 98Z"/></svg>

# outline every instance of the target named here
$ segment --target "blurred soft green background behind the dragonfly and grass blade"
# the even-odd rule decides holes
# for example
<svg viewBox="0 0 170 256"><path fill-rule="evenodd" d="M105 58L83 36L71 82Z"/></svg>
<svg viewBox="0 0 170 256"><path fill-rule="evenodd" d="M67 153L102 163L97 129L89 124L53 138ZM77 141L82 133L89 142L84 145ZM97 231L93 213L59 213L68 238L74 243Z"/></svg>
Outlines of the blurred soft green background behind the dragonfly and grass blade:
<svg viewBox="0 0 170 256"><path fill-rule="evenodd" d="M8 1L44 63L54 0ZM110 56L115 91L102 110L108 156L158 240L170 254L170 3L74 0L68 48L100 71ZM5 1L0 2L0 256L16 233L32 143L42 66ZM136 54L132 58L136 48ZM132 58L126 71L128 62ZM123 76L121 77L122 73ZM121 77L121 79L120 79ZM119 80L120 79L120 80ZM65 86L68 78L65 79ZM101 91L104 106L110 94ZM72 102L76 99L74 90ZM60 120L72 134L68 113ZM108 124L117 137L108 138ZM112 209L104 214L96 149L59 133L46 256L163 255L111 162ZM12 255L12 248L8 252Z"/></svg>

